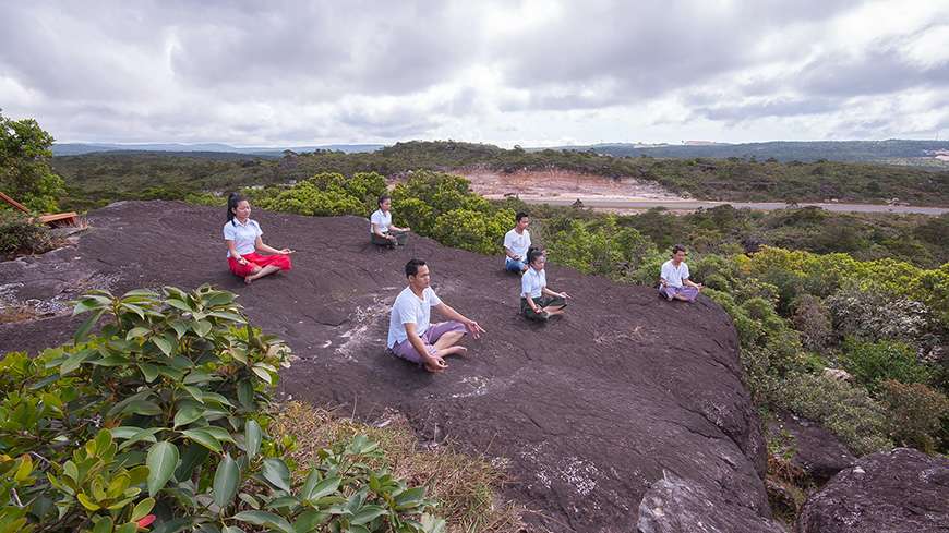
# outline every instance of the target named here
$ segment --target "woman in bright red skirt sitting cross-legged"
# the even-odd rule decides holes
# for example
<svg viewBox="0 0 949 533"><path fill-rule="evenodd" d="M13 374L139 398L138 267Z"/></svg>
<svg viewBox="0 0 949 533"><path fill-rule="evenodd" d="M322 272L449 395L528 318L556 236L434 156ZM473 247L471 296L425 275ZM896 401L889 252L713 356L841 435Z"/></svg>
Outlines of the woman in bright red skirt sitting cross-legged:
<svg viewBox="0 0 949 533"><path fill-rule="evenodd" d="M251 204L238 193L227 198L227 223L224 225L224 242L227 243L227 264L230 271L249 283L279 270L289 270L290 249L277 250L261 240L261 225L251 220ZM261 255L257 252L273 255Z"/></svg>

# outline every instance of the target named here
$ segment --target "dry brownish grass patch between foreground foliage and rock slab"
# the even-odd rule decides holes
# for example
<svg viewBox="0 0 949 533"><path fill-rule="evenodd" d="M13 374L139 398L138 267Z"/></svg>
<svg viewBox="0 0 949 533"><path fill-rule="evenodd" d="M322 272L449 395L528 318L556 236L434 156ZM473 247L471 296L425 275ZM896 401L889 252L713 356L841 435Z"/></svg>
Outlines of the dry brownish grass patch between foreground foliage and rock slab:
<svg viewBox="0 0 949 533"><path fill-rule="evenodd" d="M420 449L401 414L388 413L379 424L368 425L307 403L288 402L275 413L269 431L277 440L296 439L287 459L301 467L312 463L332 443L367 435L385 451L384 463L371 467L386 467L410 485L423 485L439 500L437 514L449 532L515 533L524 529L521 508L497 497L507 481L503 465L456 451L452 445Z"/></svg>

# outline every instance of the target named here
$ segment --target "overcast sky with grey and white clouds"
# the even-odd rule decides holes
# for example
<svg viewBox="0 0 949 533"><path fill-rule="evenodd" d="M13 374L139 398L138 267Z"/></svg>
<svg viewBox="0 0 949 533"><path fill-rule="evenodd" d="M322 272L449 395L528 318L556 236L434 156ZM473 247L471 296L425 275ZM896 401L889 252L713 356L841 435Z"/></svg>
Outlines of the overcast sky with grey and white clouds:
<svg viewBox="0 0 949 533"><path fill-rule="evenodd" d="M949 0L0 2L60 142L949 138Z"/></svg>

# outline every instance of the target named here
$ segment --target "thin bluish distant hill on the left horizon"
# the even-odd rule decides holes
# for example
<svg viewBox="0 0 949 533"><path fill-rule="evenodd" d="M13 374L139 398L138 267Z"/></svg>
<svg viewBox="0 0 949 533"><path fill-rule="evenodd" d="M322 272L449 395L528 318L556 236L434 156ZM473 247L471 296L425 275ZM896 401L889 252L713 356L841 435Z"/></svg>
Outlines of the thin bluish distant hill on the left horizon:
<svg viewBox="0 0 949 533"><path fill-rule="evenodd" d="M53 156L80 156L99 152L171 152L187 154L201 152L205 154L244 154L251 156L279 157L284 150L290 149L296 153L333 150L346 154L375 152L382 148L381 144L326 144L315 146L231 146L220 143L181 144L181 143L143 143L143 144L110 144L110 143L53 143Z"/></svg>

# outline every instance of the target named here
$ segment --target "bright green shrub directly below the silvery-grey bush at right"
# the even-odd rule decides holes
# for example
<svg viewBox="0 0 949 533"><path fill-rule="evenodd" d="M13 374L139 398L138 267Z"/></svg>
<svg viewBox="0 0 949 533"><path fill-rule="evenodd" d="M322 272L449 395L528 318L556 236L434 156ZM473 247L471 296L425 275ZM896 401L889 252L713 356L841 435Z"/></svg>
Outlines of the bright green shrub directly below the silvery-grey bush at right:
<svg viewBox="0 0 949 533"><path fill-rule="evenodd" d="M911 384L927 383L933 377L932 368L916 360L912 347L893 340L848 340L843 346L842 363L870 392L876 391L885 379Z"/></svg>

